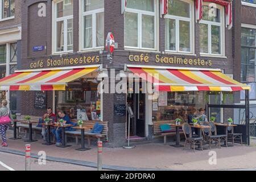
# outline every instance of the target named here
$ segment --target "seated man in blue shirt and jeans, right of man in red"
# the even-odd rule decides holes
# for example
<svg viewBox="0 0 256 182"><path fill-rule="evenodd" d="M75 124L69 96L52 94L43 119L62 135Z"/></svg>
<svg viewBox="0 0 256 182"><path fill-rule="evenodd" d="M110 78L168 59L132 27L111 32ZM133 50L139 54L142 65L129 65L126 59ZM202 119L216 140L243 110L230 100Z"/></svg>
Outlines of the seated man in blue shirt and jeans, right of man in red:
<svg viewBox="0 0 256 182"><path fill-rule="evenodd" d="M59 110L58 111L58 115L60 117L60 119L64 120L64 124L71 124L73 126L76 126L76 123L71 122L71 119L69 118L69 116L67 114L64 113L64 111ZM72 127L65 127L66 131L75 131L75 129L73 129ZM53 135L55 135L55 138L57 140L56 142L56 146L61 146L61 127L56 127L55 129L52 130Z"/></svg>

